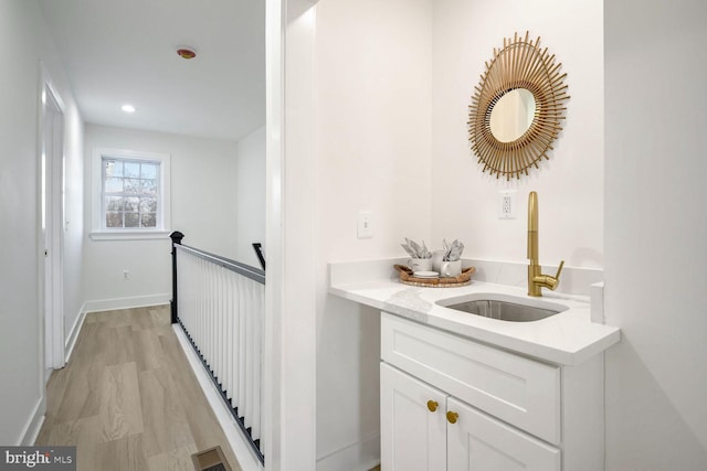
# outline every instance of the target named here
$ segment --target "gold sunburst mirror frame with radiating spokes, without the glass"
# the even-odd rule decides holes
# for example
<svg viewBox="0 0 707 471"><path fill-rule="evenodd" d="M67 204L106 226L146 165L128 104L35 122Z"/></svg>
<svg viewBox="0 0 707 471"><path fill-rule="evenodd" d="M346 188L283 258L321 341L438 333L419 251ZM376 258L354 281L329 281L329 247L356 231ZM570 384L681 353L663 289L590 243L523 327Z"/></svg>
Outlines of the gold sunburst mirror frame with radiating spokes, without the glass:
<svg viewBox="0 0 707 471"><path fill-rule="evenodd" d="M567 108L564 101L567 74L560 75L561 63L555 63L555 54L540 49L540 38L532 42L515 33L504 38L504 46L494 49L494 58L486 62L486 72L475 86L469 106L468 133L472 150L484 164L484 170L496 178L505 175L520 179L530 167L549 159L552 141L562 130ZM498 101L513 90L526 89L535 98L535 111L530 108L531 122L519 136L510 140L499 139L492 130L492 114Z"/></svg>

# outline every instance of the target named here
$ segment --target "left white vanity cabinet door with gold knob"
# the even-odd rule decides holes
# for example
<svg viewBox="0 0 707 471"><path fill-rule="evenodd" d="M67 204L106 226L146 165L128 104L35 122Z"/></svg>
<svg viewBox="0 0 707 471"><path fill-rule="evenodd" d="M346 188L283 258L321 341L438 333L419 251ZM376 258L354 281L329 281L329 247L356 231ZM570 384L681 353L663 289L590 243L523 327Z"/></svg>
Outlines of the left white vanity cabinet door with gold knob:
<svg viewBox="0 0 707 471"><path fill-rule="evenodd" d="M381 363L380 403L381 469L446 470L446 395Z"/></svg>

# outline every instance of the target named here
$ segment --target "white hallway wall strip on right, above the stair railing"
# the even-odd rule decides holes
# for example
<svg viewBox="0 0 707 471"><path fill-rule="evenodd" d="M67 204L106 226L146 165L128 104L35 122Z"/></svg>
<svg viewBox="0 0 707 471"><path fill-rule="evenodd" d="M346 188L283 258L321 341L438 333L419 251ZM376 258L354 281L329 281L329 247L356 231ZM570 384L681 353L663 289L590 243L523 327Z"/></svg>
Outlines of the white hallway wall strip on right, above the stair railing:
<svg viewBox="0 0 707 471"><path fill-rule="evenodd" d="M265 127L239 140L231 188L235 204L235 260L253 267L261 264L253 243L265 246ZM265 247L263 247L264 249Z"/></svg>

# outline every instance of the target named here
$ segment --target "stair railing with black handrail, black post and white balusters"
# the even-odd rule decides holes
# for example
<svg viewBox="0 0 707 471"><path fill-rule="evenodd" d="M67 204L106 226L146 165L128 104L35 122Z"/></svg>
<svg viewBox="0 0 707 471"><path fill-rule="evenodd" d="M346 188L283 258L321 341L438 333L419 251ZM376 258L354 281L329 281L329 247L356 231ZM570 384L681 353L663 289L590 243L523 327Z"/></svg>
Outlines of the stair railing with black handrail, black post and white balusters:
<svg viewBox="0 0 707 471"><path fill-rule="evenodd" d="M244 438L265 462L262 365L265 271L172 239L172 323L201 358ZM264 263L264 260L263 260Z"/></svg>

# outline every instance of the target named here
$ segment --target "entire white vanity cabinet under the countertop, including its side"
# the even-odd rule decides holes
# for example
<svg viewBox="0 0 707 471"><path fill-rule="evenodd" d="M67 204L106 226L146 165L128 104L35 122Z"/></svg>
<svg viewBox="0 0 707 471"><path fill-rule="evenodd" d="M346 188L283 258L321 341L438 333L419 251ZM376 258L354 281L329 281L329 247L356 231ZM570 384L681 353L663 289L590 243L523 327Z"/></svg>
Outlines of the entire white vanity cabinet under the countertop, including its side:
<svg viewBox="0 0 707 471"><path fill-rule="evenodd" d="M603 358L560 367L383 313L381 464L600 471Z"/></svg>

